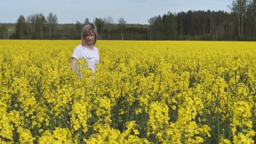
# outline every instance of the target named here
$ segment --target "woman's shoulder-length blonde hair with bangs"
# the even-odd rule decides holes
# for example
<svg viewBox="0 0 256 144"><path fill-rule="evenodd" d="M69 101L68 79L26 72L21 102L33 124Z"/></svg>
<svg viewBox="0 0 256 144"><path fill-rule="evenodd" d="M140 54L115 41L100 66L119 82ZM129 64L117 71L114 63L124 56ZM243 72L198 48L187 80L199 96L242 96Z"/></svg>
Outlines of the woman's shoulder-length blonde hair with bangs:
<svg viewBox="0 0 256 144"><path fill-rule="evenodd" d="M95 45L96 42L97 42L97 39L98 39L98 32L97 32L97 27L96 27L96 25L93 24L93 23L85 24L85 26L83 27L83 30L82 30L82 34L81 34L81 40L82 40L82 45L83 45L83 46L85 46L85 44L86 44L85 37L86 37L86 35L87 35L89 32L93 32L94 35L95 35L93 45Z"/></svg>

